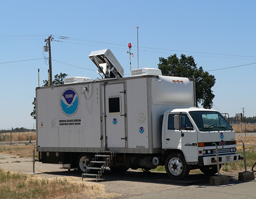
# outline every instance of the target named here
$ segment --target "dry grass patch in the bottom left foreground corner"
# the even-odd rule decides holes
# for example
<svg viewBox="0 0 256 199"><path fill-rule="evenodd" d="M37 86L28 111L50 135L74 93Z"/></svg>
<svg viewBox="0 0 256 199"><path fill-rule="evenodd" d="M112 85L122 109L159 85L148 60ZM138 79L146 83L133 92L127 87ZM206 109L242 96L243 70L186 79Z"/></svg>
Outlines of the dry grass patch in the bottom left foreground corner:
<svg viewBox="0 0 256 199"><path fill-rule="evenodd" d="M89 182L71 182L65 178L35 178L0 169L0 198L111 198L104 186Z"/></svg>

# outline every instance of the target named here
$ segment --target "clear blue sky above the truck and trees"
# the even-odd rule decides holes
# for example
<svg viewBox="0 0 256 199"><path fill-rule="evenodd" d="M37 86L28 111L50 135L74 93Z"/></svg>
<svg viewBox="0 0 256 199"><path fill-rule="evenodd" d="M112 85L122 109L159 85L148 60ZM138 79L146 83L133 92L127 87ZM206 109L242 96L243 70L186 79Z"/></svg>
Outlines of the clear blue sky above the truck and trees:
<svg viewBox="0 0 256 199"><path fill-rule="evenodd" d="M132 43L137 68L137 26L139 67L157 68L159 57L173 54L193 56L216 78L214 109L234 116L244 107L245 116L255 116L255 6L255 1L2 1L0 129L33 128L38 68L40 85L48 79L49 65L42 59L48 36L55 40L53 75L97 78L88 55L110 48L129 76L127 45ZM221 68L227 69L216 70Z"/></svg>

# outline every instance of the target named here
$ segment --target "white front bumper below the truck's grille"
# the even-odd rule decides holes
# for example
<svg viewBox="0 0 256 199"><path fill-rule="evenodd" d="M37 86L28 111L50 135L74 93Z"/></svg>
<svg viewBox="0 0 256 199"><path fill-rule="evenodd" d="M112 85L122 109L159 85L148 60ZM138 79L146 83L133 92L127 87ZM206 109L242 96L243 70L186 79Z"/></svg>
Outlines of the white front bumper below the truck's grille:
<svg viewBox="0 0 256 199"><path fill-rule="evenodd" d="M199 166L214 165L214 164L216 164L216 160L217 160L216 156L198 157ZM219 156L220 164L239 162L240 160L241 160L241 154L228 154L228 155L220 155Z"/></svg>

